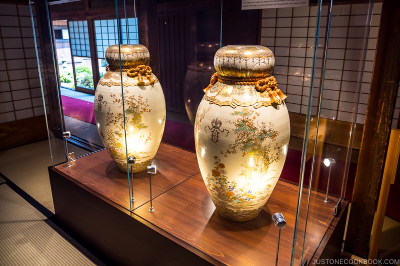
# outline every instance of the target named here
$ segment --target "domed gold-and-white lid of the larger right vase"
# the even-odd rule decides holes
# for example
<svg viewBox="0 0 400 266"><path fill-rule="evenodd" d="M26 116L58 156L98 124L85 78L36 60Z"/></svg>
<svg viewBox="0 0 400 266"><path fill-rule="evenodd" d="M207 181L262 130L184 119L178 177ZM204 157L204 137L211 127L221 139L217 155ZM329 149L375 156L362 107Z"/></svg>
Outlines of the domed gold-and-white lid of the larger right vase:
<svg viewBox="0 0 400 266"><path fill-rule="evenodd" d="M272 51L261 45L227 45L214 56L215 70L222 77L267 77L274 64Z"/></svg>

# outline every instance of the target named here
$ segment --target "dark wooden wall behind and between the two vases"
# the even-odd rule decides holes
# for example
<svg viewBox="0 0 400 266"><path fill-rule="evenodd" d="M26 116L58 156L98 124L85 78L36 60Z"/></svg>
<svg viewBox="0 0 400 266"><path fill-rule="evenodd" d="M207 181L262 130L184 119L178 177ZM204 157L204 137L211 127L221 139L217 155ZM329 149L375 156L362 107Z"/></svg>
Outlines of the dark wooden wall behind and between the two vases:
<svg viewBox="0 0 400 266"><path fill-rule="evenodd" d="M220 0L158 1L157 16L159 79L167 111L186 113L185 75L190 62L200 61L199 43L259 44L259 10L241 10L240 0L222 6Z"/></svg>

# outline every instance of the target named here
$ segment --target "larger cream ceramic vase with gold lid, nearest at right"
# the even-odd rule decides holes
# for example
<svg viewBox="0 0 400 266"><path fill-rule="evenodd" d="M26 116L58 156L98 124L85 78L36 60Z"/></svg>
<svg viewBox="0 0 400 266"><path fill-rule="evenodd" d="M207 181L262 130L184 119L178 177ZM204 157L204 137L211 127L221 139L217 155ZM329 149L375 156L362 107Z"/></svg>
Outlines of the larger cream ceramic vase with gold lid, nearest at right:
<svg viewBox="0 0 400 266"><path fill-rule="evenodd" d="M204 89L194 124L201 175L217 212L254 219L274 189L288 148L285 95L269 76L270 49L230 45L214 56L216 73Z"/></svg>

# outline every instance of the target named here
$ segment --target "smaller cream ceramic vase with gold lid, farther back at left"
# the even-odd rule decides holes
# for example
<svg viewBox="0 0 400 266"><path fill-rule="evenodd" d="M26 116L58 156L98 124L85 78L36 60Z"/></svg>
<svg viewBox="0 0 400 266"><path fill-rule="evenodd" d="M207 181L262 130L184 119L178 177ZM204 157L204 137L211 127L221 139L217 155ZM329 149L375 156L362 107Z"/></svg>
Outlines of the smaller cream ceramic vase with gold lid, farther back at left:
<svg viewBox="0 0 400 266"><path fill-rule="evenodd" d="M126 172L126 156L134 156L133 172L141 172L147 169L161 142L164 94L151 73L149 53L143 45L121 44L120 57L118 45L111 45L105 59L107 72L94 94L98 133L119 170Z"/></svg>

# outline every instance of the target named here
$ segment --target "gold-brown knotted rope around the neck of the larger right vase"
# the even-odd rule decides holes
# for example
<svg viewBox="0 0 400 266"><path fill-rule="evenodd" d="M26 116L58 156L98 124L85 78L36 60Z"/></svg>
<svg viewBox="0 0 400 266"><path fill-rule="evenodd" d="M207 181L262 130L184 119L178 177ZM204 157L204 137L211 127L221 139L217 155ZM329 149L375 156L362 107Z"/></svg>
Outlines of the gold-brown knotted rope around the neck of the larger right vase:
<svg viewBox="0 0 400 266"><path fill-rule="evenodd" d="M287 97L280 89L278 89L276 79L273 76L268 75L268 77L264 79L245 77L221 77L218 76L217 72L215 72L211 76L209 85L205 89L203 89L204 93L206 93L209 88L211 88L217 81L228 85L253 85L258 92L266 91L271 100L271 103L280 103Z"/></svg>

